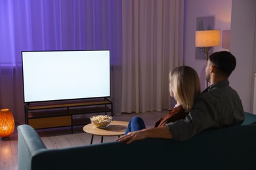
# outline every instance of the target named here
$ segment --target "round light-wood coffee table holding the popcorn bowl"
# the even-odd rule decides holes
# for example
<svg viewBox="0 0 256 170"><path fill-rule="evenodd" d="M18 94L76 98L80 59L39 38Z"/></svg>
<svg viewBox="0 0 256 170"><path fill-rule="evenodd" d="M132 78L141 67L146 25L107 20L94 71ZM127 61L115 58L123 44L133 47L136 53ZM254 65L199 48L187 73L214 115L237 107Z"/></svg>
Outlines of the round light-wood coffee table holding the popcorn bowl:
<svg viewBox="0 0 256 170"><path fill-rule="evenodd" d="M93 143L94 135L101 136L101 143L102 143L104 136L120 136L125 134L128 124L129 122L113 120L110 123L110 126L104 129L95 127L93 124L87 124L83 127L83 131L92 135L91 144Z"/></svg>

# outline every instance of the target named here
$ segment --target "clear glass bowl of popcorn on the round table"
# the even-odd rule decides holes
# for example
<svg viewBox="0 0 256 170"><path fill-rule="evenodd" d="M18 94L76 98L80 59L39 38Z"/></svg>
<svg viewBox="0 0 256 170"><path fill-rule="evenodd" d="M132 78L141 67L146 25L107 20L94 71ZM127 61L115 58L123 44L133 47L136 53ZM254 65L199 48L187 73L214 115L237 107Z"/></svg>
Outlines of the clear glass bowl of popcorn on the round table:
<svg viewBox="0 0 256 170"><path fill-rule="evenodd" d="M112 116L108 116L108 115L97 115L97 116L91 116L90 120L95 127L103 129L110 126L112 118L113 118Z"/></svg>

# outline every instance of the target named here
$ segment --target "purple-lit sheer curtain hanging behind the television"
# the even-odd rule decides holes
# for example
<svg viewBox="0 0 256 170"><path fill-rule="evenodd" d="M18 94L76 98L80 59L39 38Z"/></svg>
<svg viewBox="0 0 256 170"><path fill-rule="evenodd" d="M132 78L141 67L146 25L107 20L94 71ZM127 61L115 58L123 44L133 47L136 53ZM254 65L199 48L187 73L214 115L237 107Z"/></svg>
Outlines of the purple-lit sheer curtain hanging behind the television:
<svg viewBox="0 0 256 170"><path fill-rule="evenodd" d="M120 112L121 7L119 0L0 1L0 107L24 122L22 51L110 49Z"/></svg>

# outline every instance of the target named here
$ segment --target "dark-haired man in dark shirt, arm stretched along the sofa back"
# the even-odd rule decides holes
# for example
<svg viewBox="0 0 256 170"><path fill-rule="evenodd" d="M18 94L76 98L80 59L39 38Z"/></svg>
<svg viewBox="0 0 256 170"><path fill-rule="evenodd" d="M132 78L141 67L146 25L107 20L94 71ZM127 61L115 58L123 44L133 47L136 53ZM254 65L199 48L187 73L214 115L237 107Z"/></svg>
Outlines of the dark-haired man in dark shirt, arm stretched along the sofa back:
<svg viewBox="0 0 256 170"><path fill-rule="evenodd" d="M210 82L194 102L183 120L133 131L117 139L127 144L146 138L165 138L183 141L204 129L237 126L244 122L244 109L238 93L229 86L228 77L236 67L236 58L226 51L209 56L205 79Z"/></svg>

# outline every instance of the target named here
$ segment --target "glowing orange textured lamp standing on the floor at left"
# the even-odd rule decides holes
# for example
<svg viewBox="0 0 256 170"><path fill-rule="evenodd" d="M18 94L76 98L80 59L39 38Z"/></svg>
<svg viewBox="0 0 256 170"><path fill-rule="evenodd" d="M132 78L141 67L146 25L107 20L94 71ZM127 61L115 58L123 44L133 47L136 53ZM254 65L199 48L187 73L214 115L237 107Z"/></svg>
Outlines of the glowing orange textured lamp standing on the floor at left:
<svg viewBox="0 0 256 170"><path fill-rule="evenodd" d="M0 110L0 136L9 139L14 131L14 118L9 109Z"/></svg>

